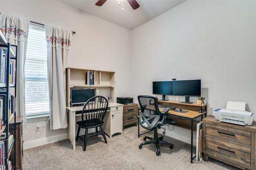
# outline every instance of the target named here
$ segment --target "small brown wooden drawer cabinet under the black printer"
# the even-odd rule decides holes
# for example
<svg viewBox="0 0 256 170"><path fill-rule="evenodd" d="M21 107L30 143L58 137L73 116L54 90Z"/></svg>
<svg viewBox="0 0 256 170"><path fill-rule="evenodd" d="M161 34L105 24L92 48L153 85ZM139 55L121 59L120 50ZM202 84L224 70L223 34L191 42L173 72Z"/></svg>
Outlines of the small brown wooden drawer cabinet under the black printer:
<svg viewBox="0 0 256 170"><path fill-rule="evenodd" d="M123 129L125 126L138 125L138 104L124 105L123 107Z"/></svg>

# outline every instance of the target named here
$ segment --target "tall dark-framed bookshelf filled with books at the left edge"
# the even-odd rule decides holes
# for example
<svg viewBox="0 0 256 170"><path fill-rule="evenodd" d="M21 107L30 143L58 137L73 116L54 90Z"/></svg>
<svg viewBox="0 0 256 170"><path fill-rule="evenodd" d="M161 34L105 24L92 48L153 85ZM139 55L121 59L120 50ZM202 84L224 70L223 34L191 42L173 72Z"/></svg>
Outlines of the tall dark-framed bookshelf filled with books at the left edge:
<svg viewBox="0 0 256 170"><path fill-rule="evenodd" d="M14 50L15 49L15 53ZM0 32L0 168L15 169L16 160L9 160L16 153L16 128L10 133L9 124L16 124L16 68L17 46L10 45Z"/></svg>

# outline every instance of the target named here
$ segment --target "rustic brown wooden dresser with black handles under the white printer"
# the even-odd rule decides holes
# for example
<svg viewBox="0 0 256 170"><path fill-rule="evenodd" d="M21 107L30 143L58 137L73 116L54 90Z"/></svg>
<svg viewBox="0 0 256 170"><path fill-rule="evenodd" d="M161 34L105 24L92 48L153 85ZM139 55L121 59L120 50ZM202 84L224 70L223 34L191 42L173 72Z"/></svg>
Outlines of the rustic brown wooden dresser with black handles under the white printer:
<svg viewBox="0 0 256 170"><path fill-rule="evenodd" d="M210 115L203 119L202 152L244 170L256 169L256 122L251 126L223 123Z"/></svg>

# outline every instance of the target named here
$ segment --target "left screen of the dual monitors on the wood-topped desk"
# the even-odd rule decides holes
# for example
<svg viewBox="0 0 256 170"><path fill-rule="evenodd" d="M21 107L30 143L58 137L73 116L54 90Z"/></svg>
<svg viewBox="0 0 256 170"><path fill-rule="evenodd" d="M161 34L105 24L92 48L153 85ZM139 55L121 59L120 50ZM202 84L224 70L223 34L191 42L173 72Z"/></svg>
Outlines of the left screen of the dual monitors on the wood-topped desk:
<svg viewBox="0 0 256 170"><path fill-rule="evenodd" d="M165 96L173 94L173 81L153 82L153 94L161 94L166 101Z"/></svg>

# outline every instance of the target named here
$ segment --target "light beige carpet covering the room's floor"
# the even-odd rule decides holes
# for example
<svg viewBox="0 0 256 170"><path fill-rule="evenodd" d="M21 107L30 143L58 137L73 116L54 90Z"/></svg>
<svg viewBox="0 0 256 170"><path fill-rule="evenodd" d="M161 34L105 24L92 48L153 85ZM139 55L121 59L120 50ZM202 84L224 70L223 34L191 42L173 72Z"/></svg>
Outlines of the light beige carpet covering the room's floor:
<svg viewBox="0 0 256 170"><path fill-rule="evenodd" d="M153 136L153 132L148 136ZM190 145L171 137L164 137L164 141L173 143L174 148L160 145L160 156L156 156L154 144L139 149L143 136L138 138L135 126L124 129L123 135L107 137L107 141L104 143L101 135L90 137L86 151L80 139L76 150L68 139L26 149L23 170L238 170L212 158L191 164Z"/></svg>

